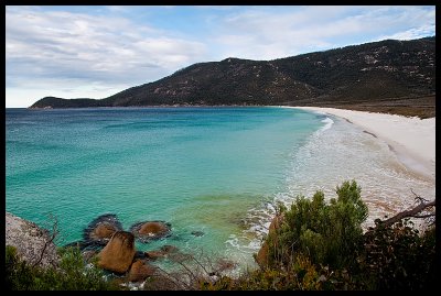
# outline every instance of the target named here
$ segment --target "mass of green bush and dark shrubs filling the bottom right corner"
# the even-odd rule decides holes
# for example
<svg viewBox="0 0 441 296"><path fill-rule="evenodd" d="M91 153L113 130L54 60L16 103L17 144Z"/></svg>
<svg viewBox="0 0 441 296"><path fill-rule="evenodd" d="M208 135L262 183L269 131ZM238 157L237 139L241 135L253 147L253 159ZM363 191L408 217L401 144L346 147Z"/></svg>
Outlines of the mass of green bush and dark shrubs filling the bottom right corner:
<svg viewBox="0 0 441 296"><path fill-rule="evenodd" d="M363 233L367 207L361 188L344 182L337 198L299 197L280 207L284 222L266 242L270 264L239 278L201 281L202 289L432 289L437 279L435 231L421 237L407 220L376 221Z"/></svg>

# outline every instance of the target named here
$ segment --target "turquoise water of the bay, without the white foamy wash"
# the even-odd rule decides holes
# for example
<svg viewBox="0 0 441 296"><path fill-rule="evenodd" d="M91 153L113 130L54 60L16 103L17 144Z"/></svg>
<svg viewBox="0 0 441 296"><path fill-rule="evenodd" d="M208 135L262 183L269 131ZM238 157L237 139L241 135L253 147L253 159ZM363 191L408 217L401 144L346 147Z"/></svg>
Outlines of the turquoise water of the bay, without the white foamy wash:
<svg viewBox="0 0 441 296"><path fill-rule="evenodd" d="M246 262L256 251L240 248L256 238L250 210L288 190L293 157L330 120L284 108L6 114L7 211L39 224L54 215L58 244L80 240L92 220L116 213L126 230L144 220L172 224L171 237L137 243L139 250L173 244Z"/></svg>

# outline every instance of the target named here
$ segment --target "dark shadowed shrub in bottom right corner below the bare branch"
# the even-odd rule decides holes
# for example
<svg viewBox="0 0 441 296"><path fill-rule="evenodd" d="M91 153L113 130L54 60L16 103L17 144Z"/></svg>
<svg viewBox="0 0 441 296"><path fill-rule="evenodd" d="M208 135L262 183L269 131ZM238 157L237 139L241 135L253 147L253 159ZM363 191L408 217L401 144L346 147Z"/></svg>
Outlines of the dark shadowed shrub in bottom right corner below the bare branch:
<svg viewBox="0 0 441 296"><path fill-rule="evenodd" d="M364 235L361 270L377 289L431 289L435 286L435 231L420 237L411 222L378 226Z"/></svg>

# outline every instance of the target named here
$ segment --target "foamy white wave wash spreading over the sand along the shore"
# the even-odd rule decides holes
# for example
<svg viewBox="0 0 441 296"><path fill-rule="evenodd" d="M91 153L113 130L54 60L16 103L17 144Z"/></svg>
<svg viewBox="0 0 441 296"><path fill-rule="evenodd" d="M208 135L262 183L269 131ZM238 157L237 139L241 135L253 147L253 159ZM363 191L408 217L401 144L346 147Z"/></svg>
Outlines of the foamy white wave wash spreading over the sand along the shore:
<svg viewBox="0 0 441 296"><path fill-rule="evenodd" d="M344 180L355 179L362 187L369 209L365 229L377 218L412 206L410 188L418 188L420 196L434 195L434 185L407 171L385 142L344 120L334 122L326 117L322 122L325 125L292 152L286 190L250 209L244 219L247 229L241 235L233 235L227 245L239 252L257 252L279 202L290 206L297 196L311 197L316 190L322 190L325 199L333 198Z"/></svg>

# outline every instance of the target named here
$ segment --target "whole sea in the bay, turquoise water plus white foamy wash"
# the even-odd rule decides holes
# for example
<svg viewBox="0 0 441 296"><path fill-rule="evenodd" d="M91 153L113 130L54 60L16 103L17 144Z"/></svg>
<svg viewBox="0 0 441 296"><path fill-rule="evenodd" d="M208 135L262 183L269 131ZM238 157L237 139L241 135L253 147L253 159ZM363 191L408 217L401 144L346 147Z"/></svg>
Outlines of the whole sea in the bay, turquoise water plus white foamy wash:
<svg viewBox="0 0 441 296"><path fill-rule="evenodd" d="M125 230L163 220L172 234L141 243L254 266L275 213L298 195L355 179L375 218L434 185L389 146L332 116L278 107L6 110L6 209L47 226L64 245L114 213ZM194 235L194 231L203 235Z"/></svg>

